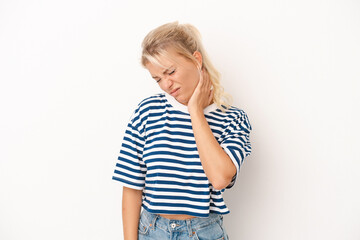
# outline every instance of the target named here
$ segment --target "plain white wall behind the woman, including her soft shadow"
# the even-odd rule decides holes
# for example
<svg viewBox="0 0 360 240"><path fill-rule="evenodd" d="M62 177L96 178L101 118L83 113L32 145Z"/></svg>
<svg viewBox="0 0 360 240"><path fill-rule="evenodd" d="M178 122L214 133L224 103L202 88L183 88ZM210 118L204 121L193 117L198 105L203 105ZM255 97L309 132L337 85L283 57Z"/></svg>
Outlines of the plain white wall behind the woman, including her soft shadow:
<svg viewBox="0 0 360 240"><path fill-rule="evenodd" d="M194 24L253 153L231 239L360 239L360 3L1 1L0 239L122 239L111 180L126 123L159 92L140 44Z"/></svg>

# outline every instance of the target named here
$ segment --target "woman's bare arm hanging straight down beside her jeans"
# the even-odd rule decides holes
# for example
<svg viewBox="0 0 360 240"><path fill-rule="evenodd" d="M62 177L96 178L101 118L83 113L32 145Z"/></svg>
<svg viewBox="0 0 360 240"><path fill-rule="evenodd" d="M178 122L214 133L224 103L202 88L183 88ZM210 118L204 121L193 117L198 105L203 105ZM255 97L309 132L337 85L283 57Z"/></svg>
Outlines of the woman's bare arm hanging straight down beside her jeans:
<svg viewBox="0 0 360 240"><path fill-rule="evenodd" d="M142 191L123 187L122 220L124 240L138 239Z"/></svg>

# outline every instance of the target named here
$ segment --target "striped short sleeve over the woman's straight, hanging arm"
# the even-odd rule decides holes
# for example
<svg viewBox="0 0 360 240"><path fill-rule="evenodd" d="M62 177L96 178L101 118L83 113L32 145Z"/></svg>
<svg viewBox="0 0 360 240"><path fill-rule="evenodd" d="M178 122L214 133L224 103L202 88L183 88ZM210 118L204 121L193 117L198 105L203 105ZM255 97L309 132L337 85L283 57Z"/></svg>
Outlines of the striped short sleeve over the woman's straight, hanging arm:
<svg viewBox="0 0 360 240"><path fill-rule="evenodd" d="M145 140L144 132L139 130L142 125L139 113L134 112L126 127L112 179L125 187L143 190L147 168L142 160Z"/></svg>

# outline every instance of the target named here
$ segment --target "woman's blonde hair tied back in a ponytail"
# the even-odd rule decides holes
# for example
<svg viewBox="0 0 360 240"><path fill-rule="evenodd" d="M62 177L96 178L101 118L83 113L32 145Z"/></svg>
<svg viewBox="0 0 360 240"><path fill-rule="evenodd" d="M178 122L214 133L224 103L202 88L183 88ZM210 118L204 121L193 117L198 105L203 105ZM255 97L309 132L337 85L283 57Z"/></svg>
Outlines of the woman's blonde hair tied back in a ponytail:
<svg viewBox="0 0 360 240"><path fill-rule="evenodd" d="M202 55L202 67L208 72L213 85L214 102L221 111L229 108L232 100L220 84L220 73L211 63L201 42L200 32L191 24L179 24L178 21L161 25L150 31L142 42L141 64L146 67L149 62L162 66L159 58L168 57L168 48L173 47L177 53L197 64L193 53Z"/></svg>

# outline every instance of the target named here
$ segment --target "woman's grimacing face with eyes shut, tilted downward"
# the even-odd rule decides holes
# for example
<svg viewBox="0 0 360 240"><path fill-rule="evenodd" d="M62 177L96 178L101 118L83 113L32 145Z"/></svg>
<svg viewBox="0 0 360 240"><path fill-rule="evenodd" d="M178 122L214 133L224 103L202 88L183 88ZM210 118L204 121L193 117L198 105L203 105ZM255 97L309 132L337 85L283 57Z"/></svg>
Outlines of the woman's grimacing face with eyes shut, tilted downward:
<svg viewBox="0 0 360 240"><path fill-rule="evenodd" d="M168 54L170 58L159 58L165 68L152 63L146 64L146 68L163 91L187 105L200 79L198 66L173 49L169 49ZM195 52L194 56L201 66L201 54Z"/></svg>

